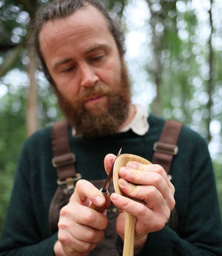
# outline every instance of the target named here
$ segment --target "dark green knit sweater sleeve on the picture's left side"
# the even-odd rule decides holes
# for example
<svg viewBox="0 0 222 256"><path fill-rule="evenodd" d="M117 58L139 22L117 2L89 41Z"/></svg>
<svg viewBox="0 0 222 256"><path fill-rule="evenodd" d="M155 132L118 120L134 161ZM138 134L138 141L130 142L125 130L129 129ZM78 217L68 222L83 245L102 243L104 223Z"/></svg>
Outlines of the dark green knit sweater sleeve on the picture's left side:
<svg viewBox="0 0 222 256"><path fill-rule="evenodd" d="M31 171L33 169L30 164L31 155L33 151L30 154L30 150L25 145L16 170L12 196L4 222L0 244L1 256L54 255L53 246L58 234L50 232L48 209L44 207L44 197L39 197L44 191ZM37 163L34 165L38 169ZM38 191L36 187L34 189L32 183L37 183Z"/></svg>

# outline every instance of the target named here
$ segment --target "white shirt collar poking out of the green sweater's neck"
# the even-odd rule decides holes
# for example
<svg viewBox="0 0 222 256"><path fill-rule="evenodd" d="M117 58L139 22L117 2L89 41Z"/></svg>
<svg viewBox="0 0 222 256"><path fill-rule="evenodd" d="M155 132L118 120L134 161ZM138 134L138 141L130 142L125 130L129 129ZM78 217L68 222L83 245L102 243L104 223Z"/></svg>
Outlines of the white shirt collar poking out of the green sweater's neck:
<svg viewBox="0 0 222 256"><path fill-rule="evenodd" d="M135 104L135 116L133 117L129 125L121 128L118 133L124 133L131 129L135 134L138 134L140 136L146 134L149 130L149 123L147 121L148 116L149 114L147 109L145 109L141 105ZM73 137L75 137L75 127L73 127Z"/></svg>

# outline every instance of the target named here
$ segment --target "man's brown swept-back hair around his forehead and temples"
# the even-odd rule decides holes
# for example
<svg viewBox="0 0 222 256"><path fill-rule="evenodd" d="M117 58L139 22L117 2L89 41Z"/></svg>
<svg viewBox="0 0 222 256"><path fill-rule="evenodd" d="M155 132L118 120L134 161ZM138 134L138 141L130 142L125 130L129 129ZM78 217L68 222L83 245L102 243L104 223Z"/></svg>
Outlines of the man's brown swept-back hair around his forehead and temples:
<svg viewBox="0 0 222 256"><path fill-rule="evenodd" d="M41 69L44 71L45 76L47 77L48 81L54 85L53 79L50 76L50 73L47 69L47 65L44 62L44 57L41 53L41 46L39 42L39 34L41 32L41 28L43 25L54 19L64 18L70 16L72 13L75 13L75 10L78 10L82 7L87 7L88 5L92 5L107 20L107 25L110 30L110 33L115 40L115 43L118 48L118 53L120 56L124 56L125 48L124 48L124 33L121 30L119 24L114 22L110 17L109 13L105 9L104 5L97 0L55 0L51 1L47 6L41 8L36 15L36 19L34 22L34 29L35 29L35 46L36 46L36 53L38 58L41 61Z"/></svg>

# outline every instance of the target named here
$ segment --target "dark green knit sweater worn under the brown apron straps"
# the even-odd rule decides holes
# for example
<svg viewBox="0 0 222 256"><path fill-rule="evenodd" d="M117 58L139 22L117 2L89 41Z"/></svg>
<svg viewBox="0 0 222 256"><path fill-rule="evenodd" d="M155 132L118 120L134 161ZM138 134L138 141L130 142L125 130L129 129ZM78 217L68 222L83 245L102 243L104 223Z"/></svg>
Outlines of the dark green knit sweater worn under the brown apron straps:
<svg viewBox="0 0 222 256"><path fill-rule="evenodd" d="M150 115L148 122L149 131L144 136L129 131L98 139L74 138L70 128L71 148L77 159L75 168L82 178L105 179L104 157L117 153L121 147L122 153L152 160L152 146L160 136L164 120ZM57 233L50 232L48 214L57 177L51 164L50 131L50 127L42 129L24 143L1 237L1 256L54 255ZM184 126L178 147L170 171L175 186L178 232L165 226L149 234L139 255L222 255L221 218L206 142ZM117 248L121 246L118 239Z"/></svg>

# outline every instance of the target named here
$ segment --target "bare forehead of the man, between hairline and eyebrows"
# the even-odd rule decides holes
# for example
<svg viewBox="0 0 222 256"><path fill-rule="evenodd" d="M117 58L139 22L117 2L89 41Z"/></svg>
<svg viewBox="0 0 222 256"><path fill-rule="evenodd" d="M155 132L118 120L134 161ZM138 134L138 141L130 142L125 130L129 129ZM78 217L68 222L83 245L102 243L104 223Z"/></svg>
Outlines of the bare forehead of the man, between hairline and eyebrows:
<svg viewBox="0 0 222 256"><path fill-rule="evenodd" d="M44 53L44 47L49 47L52 42L62 45L68 40L73 42L82 40L85 43L87 40L102 37L114 41L107 19L99 10L89 5L75 10L65 18L46 22L41 28L39 41Z"/></svg>

